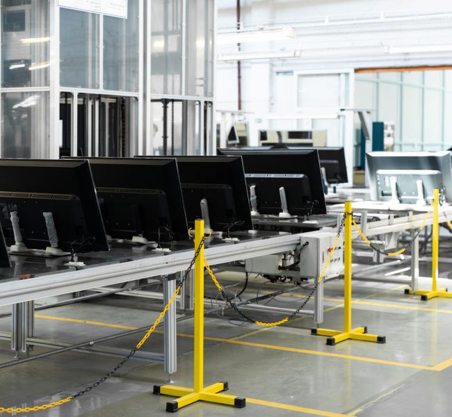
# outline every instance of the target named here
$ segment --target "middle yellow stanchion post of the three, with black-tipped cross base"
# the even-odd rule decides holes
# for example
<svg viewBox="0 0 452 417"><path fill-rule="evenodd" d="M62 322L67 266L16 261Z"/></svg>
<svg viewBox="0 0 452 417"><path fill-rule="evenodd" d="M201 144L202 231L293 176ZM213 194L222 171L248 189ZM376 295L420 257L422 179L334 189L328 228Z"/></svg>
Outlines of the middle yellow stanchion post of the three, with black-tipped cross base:
<svg viewBox="0 0 452 417"><path fill-rule="evenodd" d="M385 343L385 336L367 334L367 327L352 329L352 203L346 202L344 209L344 330L312 329L311 334L328 336L327 345L353 339L355 341Z"/></svg>

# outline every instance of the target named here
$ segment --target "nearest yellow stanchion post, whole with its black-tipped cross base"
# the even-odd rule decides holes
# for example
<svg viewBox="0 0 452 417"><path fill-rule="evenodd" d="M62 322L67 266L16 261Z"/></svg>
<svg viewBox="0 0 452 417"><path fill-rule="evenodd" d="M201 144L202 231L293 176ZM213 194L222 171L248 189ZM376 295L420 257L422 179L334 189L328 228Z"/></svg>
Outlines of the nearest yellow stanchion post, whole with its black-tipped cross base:
<svg viewBox="0 0 452 417"><path fill-rule="evenodd" d="M195 248L200 246L204 236L204 220L195 221ZM167 402L166 411L175 411L197 401L216 402L245 407L245 398L222 394L227 391L227 382L217 382L204 388L204 245L195 261L195 352L193 368L193 389L174 385L154 385L154 394L180 397Z"/></svg>

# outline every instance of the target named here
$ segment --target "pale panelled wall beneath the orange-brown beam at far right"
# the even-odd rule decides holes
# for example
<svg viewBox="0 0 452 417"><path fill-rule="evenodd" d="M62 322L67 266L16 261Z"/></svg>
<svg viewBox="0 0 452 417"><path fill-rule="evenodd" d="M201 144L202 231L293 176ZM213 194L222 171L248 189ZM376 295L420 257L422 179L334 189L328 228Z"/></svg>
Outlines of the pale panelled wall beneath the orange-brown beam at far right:
<svg viewBox="0 0 452 417"><path fill-rule="evenodd" d="M355 95L373 120L394 122L396 150L452 146L452 70L356 74Z"/></svg>

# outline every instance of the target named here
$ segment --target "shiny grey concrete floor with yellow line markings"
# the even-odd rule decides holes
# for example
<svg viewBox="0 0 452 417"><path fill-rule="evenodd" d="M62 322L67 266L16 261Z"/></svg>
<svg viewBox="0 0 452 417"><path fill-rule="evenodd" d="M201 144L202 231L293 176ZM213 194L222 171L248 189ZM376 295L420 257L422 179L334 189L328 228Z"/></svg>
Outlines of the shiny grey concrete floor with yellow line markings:
<svg viewBox="0 0 452 417"><path fill-rule="evenodd" d="M421 275L428 273L424 265ZM452 265L442 265L449 277ZM407 273L407 272L405 272ZM220 275L225 285L230 275ZM235 281L236 282L236 281ZM451 283L449 285L449 283ZM452 290L452 282L442 279ZM252 280L250 297L275 291L287 284ZM421 287L430 281L421 279ZM240 288L240 286L236 287ZM403 295L403 286L356 282L353 287L353 323L366 325L371 334L384 335L385 345L345 341L325 345L325 338L311 336L312 319L300 317L281 327L261 328L236 318L215 314L205 320L205 384L229 382L229 392L247 398L244 409L197 403L178 412L185 416L450 416L452 389L452 300L421 302ZM235 288L231 288L235 290ZM325 285L323 327L340 329L343 284ZM207 293L214 294L209 284ZM279 295L271 305L296 307L307 290ZM36 336L77 343L141 327L156 318L148 300L108 297L95 302L39 311ZM213 306L215 302L212 302ZM307 309L312 309L310 302ZM261 320L278 315L253 312ZM64 320L63 320L64 319ZM77 321L78 320L78 321ZM91 321L86 321L91 320ZM0 320L0 330L9 329ZM113 326L113 327L112 327ZM193 320L178 324L178 371L175 382L192 386ZM110 345L132 347L138 335L119 338ZM145 350L161 352L162 335L154 334ZM45 352L35 347L34 353ZM0 362L11 359L9 343L0 342ZM118 358L83 352L67 352L0 370L0 407L33 407L59 400L99 379ZM449 368L449 366L451 366ZM38 411L41 416L165 416L172 398L152 395L154 384L168 375L162 366L129 361L104 384L58 409Z"/></svg>

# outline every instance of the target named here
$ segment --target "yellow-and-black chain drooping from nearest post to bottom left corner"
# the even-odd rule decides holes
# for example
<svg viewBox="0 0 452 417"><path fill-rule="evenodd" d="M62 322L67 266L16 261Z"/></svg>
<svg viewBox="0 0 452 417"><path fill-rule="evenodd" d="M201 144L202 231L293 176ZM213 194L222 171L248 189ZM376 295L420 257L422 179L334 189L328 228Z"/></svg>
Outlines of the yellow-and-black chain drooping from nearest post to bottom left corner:
<svg viewBox="0 0 452 417"><path fill-rule="evenodd" d="M143 338L136 344L136 347L134 349L132 349L129 352L129 354L127 354L127 356L125 356L124 359L122 359L122 361L120 361L120 363L118 363L118 365L115 366L115 368L113 368L109 373L104 375L104 377L98 379L96 382L94 382L94 383L90 384L89 386L87 386L82 391L79 391L78 393L76 393L74 395L70 395L67 398L63 398L63 400L59 400L57 402L50 402L49 404L38 405L36 407L23 407L23 408L19 408L19 407L18 408L13 408L13 407L4 408L4 407L0 407L0 414L1 413L8 413L8 414L29 413L31 411L42 411L42 410L47 410L47 409L51 409L51 408L54 408L54 407L58 407L60 405L63 405L65 403L67 403L67 402L70 402L70 401L74 400L75 398L81 397L82 395L85 395L86 393L89 393L92 389L97 388L100 384L105 382L109 377L113 376L120 368L122 368L124 363L129 361L129 359L131 359L131 357L133 357L134 354L136 354L136 352L138 350L140 350L140 348L144 345L144 343L147 341L147 339L155 331L156 327L160 324L161 320L163 320L163 317L165 317L165 314L168 311L168 309L170 308L171 304L173 302L175 302L177 295L179 295L179 292L181 291L181 288L184 285L184 283L185 283L185 281L186 281L186 279L188 277L188 274L193 269L193 265L195 265L195 261L197 259L197 256L199 256L200 251L201 251L202 247L204 246L204 240L205 240L205 238L202 237L200 245L197 247L197 249L195 251L195 255L193 256L193 259L190 262L190 265L188 265L188 268L184 272L184 276L182 277L179 286L177 286L175 292L172 294L172 297L170 298L170 300L166 304L166 306L163 309L163 311L160 313L159 317L154 321L154 324L146 332L145 336L143 336Z"/></svg>

